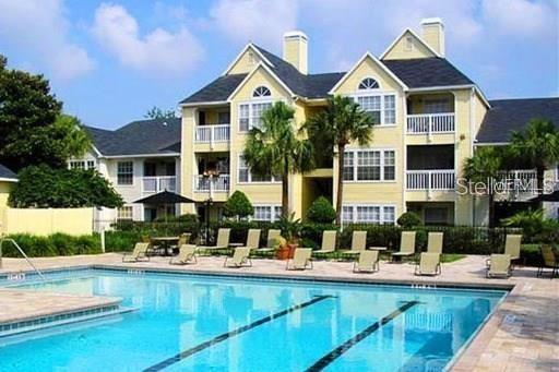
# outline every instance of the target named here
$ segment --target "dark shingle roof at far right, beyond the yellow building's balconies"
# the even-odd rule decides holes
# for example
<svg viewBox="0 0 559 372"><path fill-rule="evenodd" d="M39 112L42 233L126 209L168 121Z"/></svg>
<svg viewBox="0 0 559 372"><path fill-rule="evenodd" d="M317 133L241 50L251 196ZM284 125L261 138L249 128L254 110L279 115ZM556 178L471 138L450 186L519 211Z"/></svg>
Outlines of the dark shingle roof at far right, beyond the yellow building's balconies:
<svg viewBox="0 0 559 372"><path fill-rule="evenodd" d="M559 129L559 97L490 100L477 133L478 143L504 143L512 131L522 131L534 118L551 120Z"/></svg>

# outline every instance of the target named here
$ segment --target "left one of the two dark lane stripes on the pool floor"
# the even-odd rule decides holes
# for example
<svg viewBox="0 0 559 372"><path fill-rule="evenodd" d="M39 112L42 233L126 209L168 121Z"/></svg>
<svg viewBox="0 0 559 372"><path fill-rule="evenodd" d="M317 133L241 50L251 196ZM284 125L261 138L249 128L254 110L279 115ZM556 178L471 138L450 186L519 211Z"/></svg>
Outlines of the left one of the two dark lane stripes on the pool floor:
<svg viewBox="0 0 559 372"><path fill-rule="evenodd" d="M229 337L234 337L234 336L237 336L243 332L247 332L247 331L250 331L254 327L258 327L259 325L262 325L262 324L265 324L265 323L269 323L269 322L272 322L278 317L282 317L282 316L285 316L289 313L293 313L294 311L297 311L297 310L301 310L304 308L307 308L307 307L310 307L311 304L314 304L317 302L320 302L320 301L323 301L323 300L326 300L326 299L331 299L331 298L334 298L334 296L330 296L330 295L325 295L325 296L316 296L312 300L310 301L307 301L307 302L302 302L302 303L299 303L299 304L296 304L292 308L288 308L288 309L285 309L285 310L282 310L281 312L277 312L275 314L272 314L272 315L269 315L269 316L265 316L265 317L262 317L255 322L252 322L250 324L247 324L247 325L243 325L237 329L233 329L233 331L229 331L229 332L226 332L224 334L221 334L219 336L217 337L214 337L205 343L202 343L200 345L197 345L194 346L193 348L190 348L190 349L187 349L185 351L181 351L179 353L177 353L176 356L174 357L170 357L168 359L165 359L164 361L157 363L157 364L154 364L150 368L146 368L144 371L145 372L154 372L154 371L160 371L171 364L175 364L175 363L178 363L179 361L181 361L182 359L186 359L197 352L200 352L204 349L207 349L209 347L212 347L214 346L215 344L218 344L218 343L222 343L226 339L228 339Z"/></svg>

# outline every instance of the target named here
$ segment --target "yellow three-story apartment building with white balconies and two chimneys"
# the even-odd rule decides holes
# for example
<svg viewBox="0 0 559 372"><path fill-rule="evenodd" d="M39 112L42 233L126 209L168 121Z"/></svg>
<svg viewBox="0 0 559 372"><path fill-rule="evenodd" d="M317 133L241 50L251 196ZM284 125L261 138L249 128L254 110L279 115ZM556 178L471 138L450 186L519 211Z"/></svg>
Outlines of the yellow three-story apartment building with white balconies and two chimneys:
<svg viewBox="0 0 559 372"><path fill-rule="evenodd" d="M195 200L182 212L219 216L223 202L241 190L255 207L253 218L280 214L281 183L250 172L241 153L248 130L275 100L295 109L296 124L326 105L330 95L347 95L377 119L367 147L347 148L343 219L392 224L405 211L426 224L487 223L486 201L460 196L455 182L475 146L508 141L532 117L558 118L558 98L488 101L479 87L444 58L439 19L421 22L423 35L405 29L377 58L366 52L347 72L308 71L308 38L284 36L283 58L248 44L212 83L183 99L181 194ZM519 107L525 116L510 120ZM305 218L310 203L335 194L332 161L306 175L293 175L290 207ZM556 176L557 177L557 176ZM211 203L210 203L211 201ZM485 204L484 204L485 203Z"/></svg>

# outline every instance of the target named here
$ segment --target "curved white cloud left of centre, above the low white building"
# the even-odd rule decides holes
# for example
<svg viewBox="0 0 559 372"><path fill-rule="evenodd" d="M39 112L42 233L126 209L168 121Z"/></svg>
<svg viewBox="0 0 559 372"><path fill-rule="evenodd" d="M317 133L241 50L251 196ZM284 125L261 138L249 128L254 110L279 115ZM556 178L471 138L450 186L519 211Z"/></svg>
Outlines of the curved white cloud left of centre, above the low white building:
<svg viewBox="0 0 559 372"><path fill-rule="evenodd" d="M155 28L142 37L136 20L116 4L103 3L97 8L92 33L122 65L138 71L183 73L197 67L204 53L186 27L176 33Z"/></svg>

